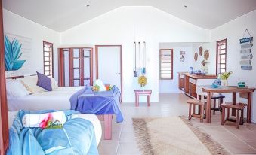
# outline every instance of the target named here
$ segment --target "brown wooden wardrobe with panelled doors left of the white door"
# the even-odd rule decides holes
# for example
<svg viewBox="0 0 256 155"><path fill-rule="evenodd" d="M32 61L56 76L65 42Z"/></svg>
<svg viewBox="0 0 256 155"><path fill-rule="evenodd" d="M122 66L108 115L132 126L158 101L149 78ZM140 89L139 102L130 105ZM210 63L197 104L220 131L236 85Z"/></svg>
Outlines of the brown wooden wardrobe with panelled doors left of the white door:
<svg viewBox="0 0 256 155"><path fill-rule="evenodd" d="M59 85L85 86L93 81L91 47L59 49Z"/></svg>

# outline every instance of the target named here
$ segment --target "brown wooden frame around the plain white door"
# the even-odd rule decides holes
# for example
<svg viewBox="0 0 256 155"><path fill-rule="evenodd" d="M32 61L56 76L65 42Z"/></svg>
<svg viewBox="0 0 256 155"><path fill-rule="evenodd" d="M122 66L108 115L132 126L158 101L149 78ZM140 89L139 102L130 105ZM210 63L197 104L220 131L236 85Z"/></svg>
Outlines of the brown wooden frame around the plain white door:
<svg viewBox="0 0 256 155"><path fill-rule="evenodd" d="M99 77L98 47L120 47L120 82L121 82L121 102L122 102L122 45L95 45L96 79Z"/></svg>

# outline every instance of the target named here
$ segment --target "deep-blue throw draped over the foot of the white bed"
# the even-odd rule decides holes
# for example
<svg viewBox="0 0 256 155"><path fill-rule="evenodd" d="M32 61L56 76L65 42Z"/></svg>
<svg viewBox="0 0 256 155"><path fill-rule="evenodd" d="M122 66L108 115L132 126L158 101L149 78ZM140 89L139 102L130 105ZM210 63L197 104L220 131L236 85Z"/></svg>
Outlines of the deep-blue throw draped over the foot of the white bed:
<svg viewBox="0 0 256 155"><path fill-rule="evenodd" d="M112 90L94 92L91 87L85 87L70 98L71 109L87 114L116 114L116 122L122 122L120 110L121 93L116 86Z"/></svg>

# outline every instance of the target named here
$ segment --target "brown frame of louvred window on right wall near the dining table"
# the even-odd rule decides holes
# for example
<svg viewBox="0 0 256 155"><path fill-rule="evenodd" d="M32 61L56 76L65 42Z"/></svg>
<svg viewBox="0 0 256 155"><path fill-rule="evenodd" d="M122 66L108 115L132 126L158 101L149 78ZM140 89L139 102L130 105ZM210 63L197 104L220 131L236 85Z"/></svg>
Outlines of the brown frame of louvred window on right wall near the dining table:
<svg viewBox="0 0 256 155"><path fill-rule="evenodd" d="M221 53L221 55L225 55L225 58L224 58L225 63L221 63L220 62L221 59L219 59L219 57L218 57L220 55L220 53L219 53L220 51L218 50L219 49L218 47L220 46L220 48L221 48L220 44L222 44L222 43L225 44L225 48L221 49L221 50L225 50L225 53ZM221 68L221 65L225 65L225 68ZM219 68L220 68L220 70L219 70ZM227 38L216 42L216 75L221 74L221 69L224 69L225 72L227 71Z"/></svg>

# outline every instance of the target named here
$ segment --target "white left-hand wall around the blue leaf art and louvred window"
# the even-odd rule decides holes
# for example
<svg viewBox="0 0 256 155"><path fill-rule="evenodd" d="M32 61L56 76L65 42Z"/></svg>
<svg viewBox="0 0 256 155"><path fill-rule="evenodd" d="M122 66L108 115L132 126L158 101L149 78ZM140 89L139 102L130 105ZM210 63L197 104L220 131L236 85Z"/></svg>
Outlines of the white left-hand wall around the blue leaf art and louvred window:
<svg viewBox="0 0 256 155"><path fill-rule="evenodd" d="M4 33L31 38L31 56L26 59L29 69L16 74L36 74L35 71L43 72L43 42L54 44L54 78L57 80L57 47L60 44L60 33L48 29L38 23L20 17L3 9Z"/></svg>

